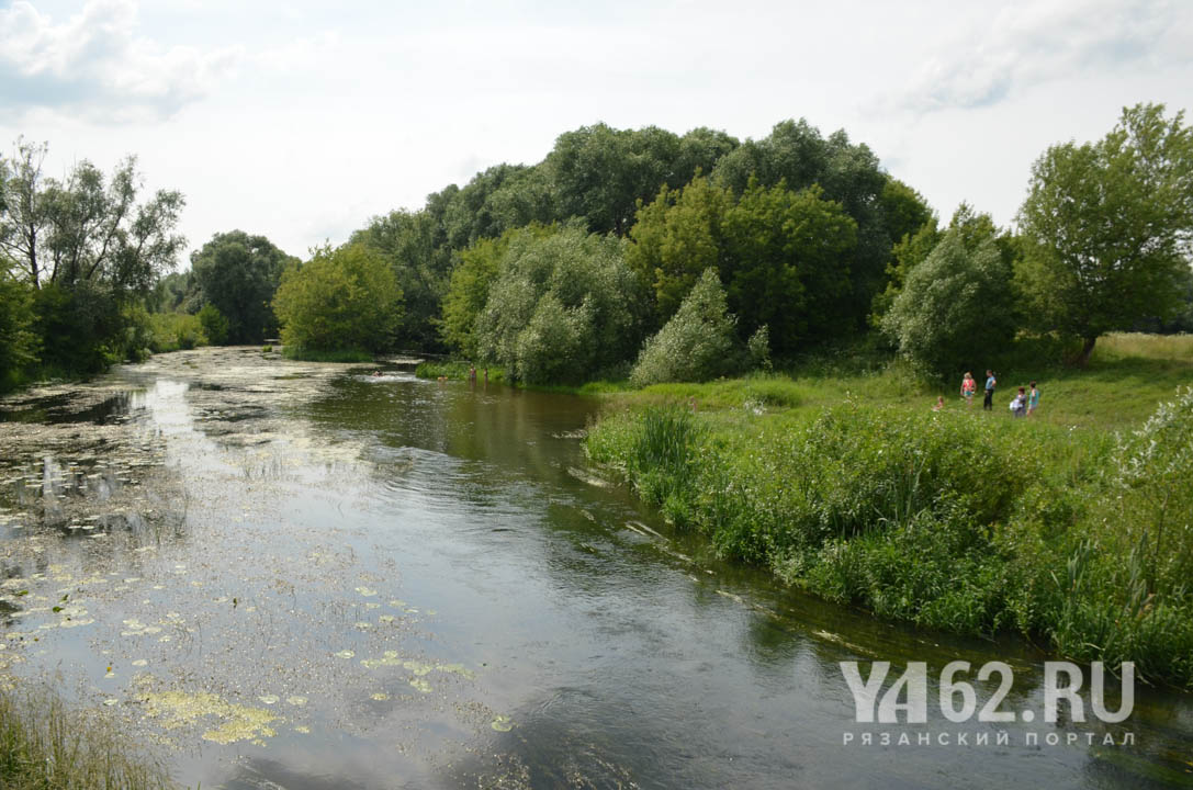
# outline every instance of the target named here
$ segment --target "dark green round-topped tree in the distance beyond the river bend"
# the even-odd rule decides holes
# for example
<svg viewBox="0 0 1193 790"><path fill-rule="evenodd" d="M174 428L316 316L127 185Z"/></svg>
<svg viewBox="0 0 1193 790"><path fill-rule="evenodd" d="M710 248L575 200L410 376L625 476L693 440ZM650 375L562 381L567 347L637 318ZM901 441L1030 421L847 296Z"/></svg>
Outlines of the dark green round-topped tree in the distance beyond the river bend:
<svg viewBox="0 0 1193 790"><path fill-rule="evenodd" d="M228 320L227 342L260 342L277 332L270 302L283 270L295 260L265 236L243 230L217 233L191 254L191 271L204 302Z"/></svg>

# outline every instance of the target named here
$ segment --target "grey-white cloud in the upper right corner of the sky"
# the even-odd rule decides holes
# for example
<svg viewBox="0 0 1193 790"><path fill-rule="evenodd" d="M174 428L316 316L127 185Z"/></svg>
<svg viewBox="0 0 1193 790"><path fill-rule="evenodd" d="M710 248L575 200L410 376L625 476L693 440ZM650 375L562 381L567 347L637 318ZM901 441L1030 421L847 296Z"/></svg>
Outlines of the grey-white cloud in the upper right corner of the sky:
<svg viewBox="0 0 1193 790"><path fill-rule="evenodd" d="M984 107L1024 86L1075 74L1187 61L1180 31L1191 21L1189 6L1169 0L1015 2L941 42L896 105L916 112Z"/></svg>

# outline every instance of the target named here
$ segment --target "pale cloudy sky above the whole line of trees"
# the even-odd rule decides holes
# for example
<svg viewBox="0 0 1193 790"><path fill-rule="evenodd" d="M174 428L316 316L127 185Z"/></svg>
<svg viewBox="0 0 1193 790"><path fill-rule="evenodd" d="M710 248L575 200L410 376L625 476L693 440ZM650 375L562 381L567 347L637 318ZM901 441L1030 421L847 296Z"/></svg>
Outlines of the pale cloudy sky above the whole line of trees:
<svg viewBox="0 0 1193 790"><path fill-rule="evenodd" d="M1193 115L1193 1L0 0L0 155L135 154L191 249L239 228L305 257L598 122L806 118L944 221L1008 226L1049 146L1144 101Z"/></svg>

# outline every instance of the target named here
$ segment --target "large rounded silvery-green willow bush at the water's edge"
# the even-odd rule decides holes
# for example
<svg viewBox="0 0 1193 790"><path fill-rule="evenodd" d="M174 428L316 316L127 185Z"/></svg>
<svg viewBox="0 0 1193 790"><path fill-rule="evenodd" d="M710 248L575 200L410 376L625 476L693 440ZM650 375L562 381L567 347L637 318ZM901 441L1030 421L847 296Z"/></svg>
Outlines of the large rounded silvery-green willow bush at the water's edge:
<svg viewBox="0 0 1193 790"><path fill-rule="evenodd" d="M476 320L480 357L532 384L579 383L626 359L644 295L622 242L568 227L517 234Z"/></svg>

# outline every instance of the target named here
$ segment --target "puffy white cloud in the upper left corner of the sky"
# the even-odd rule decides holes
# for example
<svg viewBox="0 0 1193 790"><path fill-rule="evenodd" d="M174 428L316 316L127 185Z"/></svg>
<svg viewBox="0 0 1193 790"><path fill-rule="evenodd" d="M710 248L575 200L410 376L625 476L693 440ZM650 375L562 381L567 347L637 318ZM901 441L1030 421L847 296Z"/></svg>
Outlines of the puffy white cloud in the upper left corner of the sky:
<svg viewBox="0 0 1193 790"><path fill-rule="evenodd" d="M0 101L98 122L167 118L206 95L239 50L163 49L137 35L131 0L91 0L62 23L30 2L0 11Z"/></svg>

